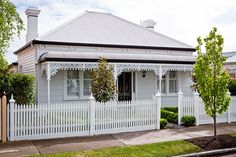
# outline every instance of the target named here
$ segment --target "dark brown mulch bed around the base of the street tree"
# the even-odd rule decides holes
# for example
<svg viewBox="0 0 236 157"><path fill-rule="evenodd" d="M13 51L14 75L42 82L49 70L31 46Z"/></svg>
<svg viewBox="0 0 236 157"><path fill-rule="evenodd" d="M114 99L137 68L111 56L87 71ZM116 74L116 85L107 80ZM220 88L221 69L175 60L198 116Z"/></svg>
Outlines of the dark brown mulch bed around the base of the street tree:
<svg viewBox="0 0 236 157"><path fill-rule="evenodd" d="M186 141L206 151L236 147L236 137L230 135L218 135L216 139L214 136L198 137Z"/></svg>

